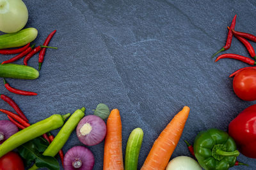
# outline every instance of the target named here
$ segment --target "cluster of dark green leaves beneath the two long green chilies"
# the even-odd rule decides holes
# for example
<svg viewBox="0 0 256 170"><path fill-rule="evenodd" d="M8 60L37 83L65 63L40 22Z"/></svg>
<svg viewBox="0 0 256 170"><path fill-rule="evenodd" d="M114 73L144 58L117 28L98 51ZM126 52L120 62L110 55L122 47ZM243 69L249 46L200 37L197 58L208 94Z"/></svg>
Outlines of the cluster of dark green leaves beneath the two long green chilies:
<svg viewBox="0 0 256 170"><path fill-rule="evenodd" d="M58 170L60 169L58 160L54 157L42 155L42 152L45 151L48 145L45 139L39 137L24 143L17 149L20 156L26 160L26 166L30 166L32 162L35 162L37 167L47 167L50 170Z"/></svg>

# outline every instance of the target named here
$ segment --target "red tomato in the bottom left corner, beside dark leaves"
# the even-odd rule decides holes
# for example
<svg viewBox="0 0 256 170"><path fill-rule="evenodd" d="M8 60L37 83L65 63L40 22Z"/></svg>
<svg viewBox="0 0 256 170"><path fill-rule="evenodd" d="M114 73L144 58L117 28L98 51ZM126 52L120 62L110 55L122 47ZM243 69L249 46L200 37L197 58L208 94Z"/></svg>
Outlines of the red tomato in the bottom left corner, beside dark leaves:
<svg viewBox="0 0 256 170"><path fill-rule="evenodd" d="M24 170L20 156L15 152L6 153L0 158L0 170Z"/></svg>

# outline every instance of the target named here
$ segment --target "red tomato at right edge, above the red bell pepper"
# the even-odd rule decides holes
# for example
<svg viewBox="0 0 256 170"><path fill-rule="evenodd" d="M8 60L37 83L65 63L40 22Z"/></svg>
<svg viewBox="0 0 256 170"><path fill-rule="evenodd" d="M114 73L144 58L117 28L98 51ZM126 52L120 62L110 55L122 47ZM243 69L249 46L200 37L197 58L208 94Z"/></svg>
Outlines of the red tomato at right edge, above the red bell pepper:
<svg viewBox="0 0 256 170"><path fill-rule="evenodd" d="M233 89L244 101L256 100L256 69L248 68L239 71L233 80Z"/></svg>

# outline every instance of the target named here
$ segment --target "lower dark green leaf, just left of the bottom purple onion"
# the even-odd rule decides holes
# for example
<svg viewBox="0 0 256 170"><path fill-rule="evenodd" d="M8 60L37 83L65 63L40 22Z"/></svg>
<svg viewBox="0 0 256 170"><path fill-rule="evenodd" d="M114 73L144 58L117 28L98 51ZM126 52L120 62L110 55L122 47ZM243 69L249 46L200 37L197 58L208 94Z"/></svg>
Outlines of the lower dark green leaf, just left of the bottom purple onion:
<svg viewBox="0 0 256 170"><path fill-rule="evenodd" d="M57 159L54 157L40 155L36 158L37 167L47 167L50 170L59 170L60 165Z"/></svg>

